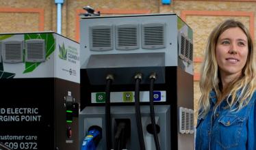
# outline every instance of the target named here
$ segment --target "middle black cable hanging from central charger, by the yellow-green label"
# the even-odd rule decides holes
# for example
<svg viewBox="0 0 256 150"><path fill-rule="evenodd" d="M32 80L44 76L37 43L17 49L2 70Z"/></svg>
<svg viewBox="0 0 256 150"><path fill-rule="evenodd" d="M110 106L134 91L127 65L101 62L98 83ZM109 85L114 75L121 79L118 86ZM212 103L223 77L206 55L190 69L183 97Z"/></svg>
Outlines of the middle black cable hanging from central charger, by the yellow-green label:
<svg viewBox="0 0 256 150"><path fill-rule="evenodd" d="M140 142L140 150L145 150L145 143L144 143L144 136L142 130L142 123L141 123L141 115L140 115L140 82L142 80L142 74L138 73L135 78L135 110L136 110L136 123L137 123L137 130L138 130L138 137Z"/></svg>

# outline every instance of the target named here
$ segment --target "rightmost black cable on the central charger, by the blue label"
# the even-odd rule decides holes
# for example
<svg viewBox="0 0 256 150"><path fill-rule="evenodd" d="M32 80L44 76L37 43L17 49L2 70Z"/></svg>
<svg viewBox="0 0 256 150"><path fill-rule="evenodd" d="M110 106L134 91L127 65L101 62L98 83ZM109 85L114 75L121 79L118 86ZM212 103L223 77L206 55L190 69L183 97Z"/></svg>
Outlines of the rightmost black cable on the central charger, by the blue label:
<svg viewBox="0 0 256 150"><path fill-rule="evenodd" d="M150 117L151 117L151 125L153 127L153 136L155 140L155 149L160 150L159 140L157 136L157 127L155 125L155 108L154 108L154 82L157 80L157 75L155 72L149 76L150 78L150 89L149 89L149 100L150 100Z"/></svg>

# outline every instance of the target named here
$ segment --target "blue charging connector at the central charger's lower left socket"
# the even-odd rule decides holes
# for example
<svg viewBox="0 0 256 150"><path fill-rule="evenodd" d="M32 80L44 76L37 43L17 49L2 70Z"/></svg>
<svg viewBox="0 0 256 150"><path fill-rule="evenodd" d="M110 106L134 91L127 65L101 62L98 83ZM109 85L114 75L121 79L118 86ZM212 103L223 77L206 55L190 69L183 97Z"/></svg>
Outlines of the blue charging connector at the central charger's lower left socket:
<svg viewBox="0 0 256 150"><path fill-rule="evenodd" d="M96 150L102 138L102 129L97 125L89 127L86 138L84 138L81 150Z"/></svg>

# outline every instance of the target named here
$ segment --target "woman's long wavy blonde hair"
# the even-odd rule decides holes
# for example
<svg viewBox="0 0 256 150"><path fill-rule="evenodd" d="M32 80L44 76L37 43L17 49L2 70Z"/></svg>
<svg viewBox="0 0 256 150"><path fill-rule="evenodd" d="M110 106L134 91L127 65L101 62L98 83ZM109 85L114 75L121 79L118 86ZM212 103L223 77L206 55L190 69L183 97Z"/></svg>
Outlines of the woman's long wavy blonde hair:
<svg viewBox="0 0 256 150"><path fill-rule="evenodd" d="M231 82L229 87L227 88L227 103L229 107L235 106L237 102L239 105L235 108L236 110L240 110L246 104L248 104L248 100L251 99L253 92L256 89L256 62L255 62L255 51L253 50L253 41L251 35L244 27L242 23L235 20L225 20L220 23L209 35L206 50L205 50L205 59L203 61L203 65L201 67L201 80L199 82L201 89L201 97L199 99L199 108L201 114L206 115L209 111L210 103L210 91L214 90L216 92L216 99L221 97L222 94L222 85L220 82L220 77L218 73L218 64L216 61L216 43L218 41L218 37L227 29L239 27L244 31L247 39L248 39L248 56L246 60L246 64L242 69L242 76L240 78ZM236 93L241 90L241 94L239 97L236 96ZM231 98L231 100L228 100Z"/></svg>

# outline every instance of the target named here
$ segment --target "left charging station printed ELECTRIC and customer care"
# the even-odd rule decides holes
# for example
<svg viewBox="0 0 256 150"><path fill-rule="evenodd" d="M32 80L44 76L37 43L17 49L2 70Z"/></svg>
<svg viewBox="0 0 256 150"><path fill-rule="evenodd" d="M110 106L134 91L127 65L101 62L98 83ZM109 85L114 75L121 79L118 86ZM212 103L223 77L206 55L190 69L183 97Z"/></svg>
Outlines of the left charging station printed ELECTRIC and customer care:
<svg viewBox="0 0 256 150"><path fill-rule="evenodd" d="M0 43L0 149L79 149L79 44L51 31Z"/></svg>

